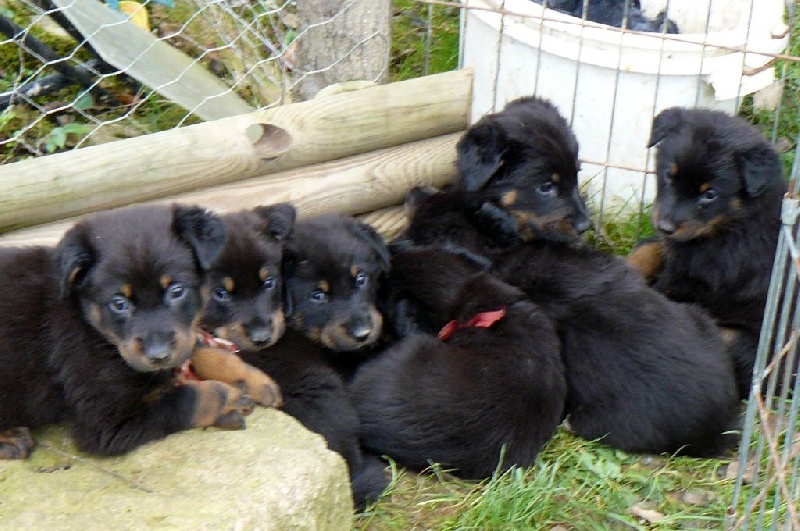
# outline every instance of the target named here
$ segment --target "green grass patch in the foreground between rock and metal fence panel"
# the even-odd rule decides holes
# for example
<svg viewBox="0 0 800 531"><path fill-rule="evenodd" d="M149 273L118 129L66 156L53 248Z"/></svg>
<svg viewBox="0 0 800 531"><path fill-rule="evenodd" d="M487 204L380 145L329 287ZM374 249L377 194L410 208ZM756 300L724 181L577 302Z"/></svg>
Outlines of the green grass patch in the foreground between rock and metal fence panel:
<svg viewBox="0 0 800 531"><path fill-rule="evenodd" d="M630 455L560 430L536 464L482 483L396 470L356 529L719 529L730 460ZM642 511L642 512L636 512ZM650 520L648 520L648 517Z"/></svg>

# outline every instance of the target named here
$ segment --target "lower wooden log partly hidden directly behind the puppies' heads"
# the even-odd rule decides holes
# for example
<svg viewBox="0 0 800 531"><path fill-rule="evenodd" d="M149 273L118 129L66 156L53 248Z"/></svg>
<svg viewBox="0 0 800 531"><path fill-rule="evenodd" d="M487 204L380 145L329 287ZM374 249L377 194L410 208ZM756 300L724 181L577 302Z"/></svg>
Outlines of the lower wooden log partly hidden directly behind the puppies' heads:
<svg viewBox="0 0 800 531"><path fill-rule="evenodd" d="M443 186L456 175L455 145L461 133L412 142L346 159L180 194L155 203L195 203L217 212L290 201L301 217L341 212L363 214L403 202L412 186ZM373 219L386 234L402 228L396 218ZM53 245L79 218L0 236L0 246Z"/></svg>

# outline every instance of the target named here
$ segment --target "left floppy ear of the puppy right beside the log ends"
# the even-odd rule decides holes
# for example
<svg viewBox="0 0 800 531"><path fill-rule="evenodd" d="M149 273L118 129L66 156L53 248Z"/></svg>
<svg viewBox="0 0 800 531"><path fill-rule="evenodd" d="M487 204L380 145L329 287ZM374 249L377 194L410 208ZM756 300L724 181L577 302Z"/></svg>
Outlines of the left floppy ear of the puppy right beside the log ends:
<svg viewBox="0 0 800 531"><path fill-rule="evenodd" d="M459 186L476 192L486 186L503 165L507 148L505 134L490 122L478 122L458 141L456 164Z"/></svg>

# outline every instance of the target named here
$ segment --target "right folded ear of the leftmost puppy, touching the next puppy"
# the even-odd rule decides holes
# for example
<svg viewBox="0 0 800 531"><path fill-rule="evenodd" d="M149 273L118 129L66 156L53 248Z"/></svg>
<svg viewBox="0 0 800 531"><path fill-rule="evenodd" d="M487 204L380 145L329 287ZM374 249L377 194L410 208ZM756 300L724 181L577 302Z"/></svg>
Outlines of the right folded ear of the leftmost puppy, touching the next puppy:
<svg viewBox="0 0 800 531"><path fill-rule="evenodd" d="M191 247L204 271L208 271L225 247L225 223L213 212L198 206L173 205L172 231Z"/></svg>

